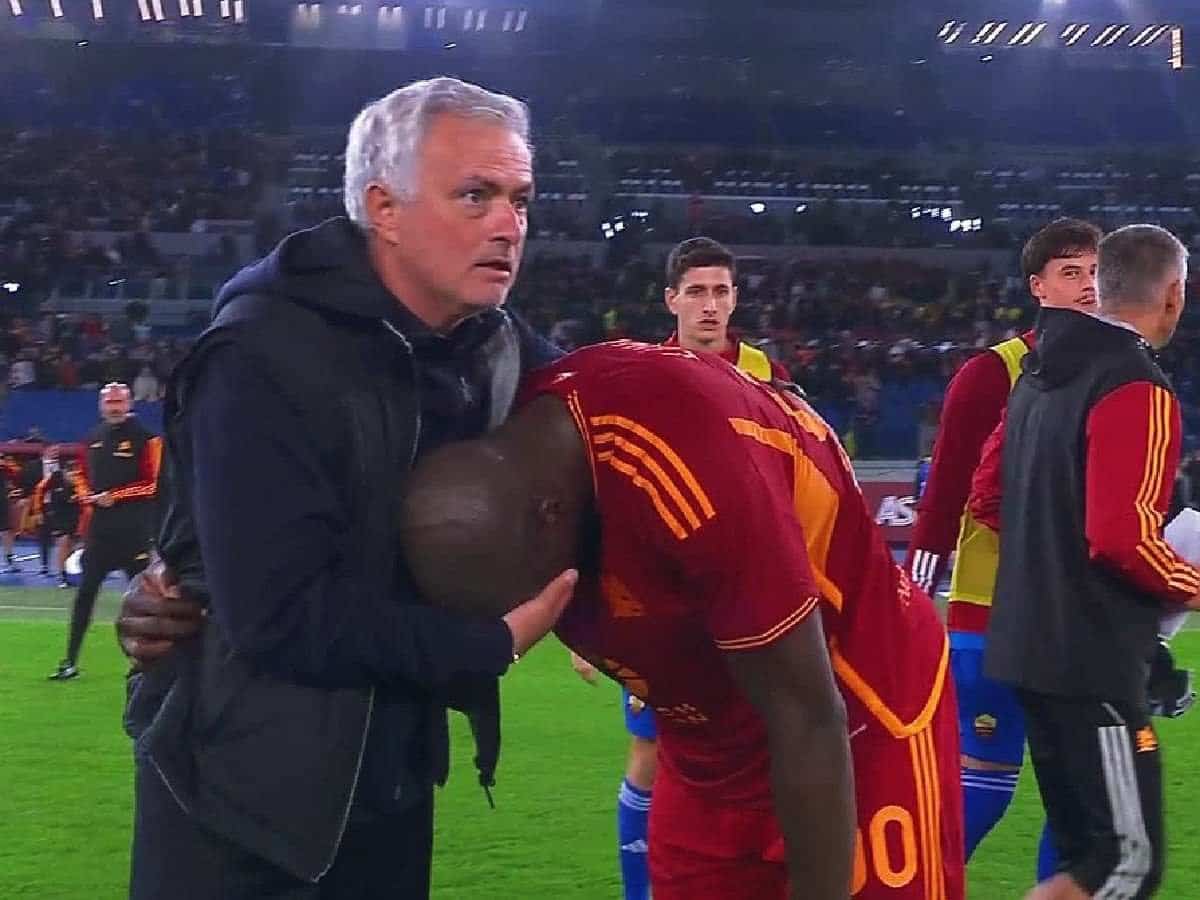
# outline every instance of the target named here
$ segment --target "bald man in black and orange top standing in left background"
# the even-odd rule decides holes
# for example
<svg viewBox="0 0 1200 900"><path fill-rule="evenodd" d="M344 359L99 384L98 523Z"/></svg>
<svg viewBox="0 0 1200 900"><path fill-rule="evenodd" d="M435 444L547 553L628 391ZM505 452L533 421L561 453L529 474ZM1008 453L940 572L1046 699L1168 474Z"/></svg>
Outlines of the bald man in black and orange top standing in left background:
<svg viewBox="0 0 1200 900"><path fill-rule="evenodd" d="M71 610L67 655L50 680L79 676L79 648L108 574L122 569L132 578L150 562L162 440L134 418L131 407L128 385L113 382L101 389L102 421L85 438L84 449L84 503L91 506L91 521L83 574Z"/></svg>

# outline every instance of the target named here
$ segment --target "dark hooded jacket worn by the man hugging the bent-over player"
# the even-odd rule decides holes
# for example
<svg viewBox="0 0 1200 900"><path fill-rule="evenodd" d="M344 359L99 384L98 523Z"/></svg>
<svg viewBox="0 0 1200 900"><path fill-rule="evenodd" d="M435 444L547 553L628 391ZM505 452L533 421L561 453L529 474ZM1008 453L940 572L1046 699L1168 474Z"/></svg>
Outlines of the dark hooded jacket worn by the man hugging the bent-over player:
<svg viewBox="0 0 1200 900"><path fill-rule="evenodd" d="M498 310L431 332L344 218L222 289L164 409L160 550L209 624L132 680L126 710L139 761L198 821L314 881L352 800L388 812L445 779L445 706L494 702L511 635L419 602L402 473L503 421L554 355Z"/></svg>

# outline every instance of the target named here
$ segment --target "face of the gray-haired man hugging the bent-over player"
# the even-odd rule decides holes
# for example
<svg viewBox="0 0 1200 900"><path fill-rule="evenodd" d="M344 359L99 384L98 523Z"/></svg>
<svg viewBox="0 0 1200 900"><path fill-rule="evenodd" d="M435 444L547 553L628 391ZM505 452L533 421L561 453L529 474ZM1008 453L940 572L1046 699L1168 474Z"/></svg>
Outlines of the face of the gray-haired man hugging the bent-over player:
<svg viewBox="0 0 1200 900"><path fill-rule="evenodd" d="M418 155L415 192L383 233L401 300L448 322L499 306L516 278L533 194L533 158L510 128L438 116ZM431 323L434 324L434 323Z"/></svg>

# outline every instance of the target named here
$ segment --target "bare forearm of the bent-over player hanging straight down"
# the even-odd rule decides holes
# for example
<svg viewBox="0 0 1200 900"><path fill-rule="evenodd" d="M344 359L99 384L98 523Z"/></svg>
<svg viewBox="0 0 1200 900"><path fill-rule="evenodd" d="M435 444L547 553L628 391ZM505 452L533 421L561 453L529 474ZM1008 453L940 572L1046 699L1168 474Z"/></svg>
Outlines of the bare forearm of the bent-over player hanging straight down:
<svg viewBox="0 0 1200 900"><path fill-rule="evenodd" d="M814 610L782 637L725 654L767 726L770 787L793 898L845 900L854 847L846 708Z"/></svg>

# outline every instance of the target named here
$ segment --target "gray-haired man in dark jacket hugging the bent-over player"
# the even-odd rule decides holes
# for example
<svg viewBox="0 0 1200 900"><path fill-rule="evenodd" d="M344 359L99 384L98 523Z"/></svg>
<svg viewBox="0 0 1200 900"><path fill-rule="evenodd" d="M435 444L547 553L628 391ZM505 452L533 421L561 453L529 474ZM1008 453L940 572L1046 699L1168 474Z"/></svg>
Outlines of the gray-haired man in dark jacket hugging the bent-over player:
<svg viewBox="0 0 1200 900"><path fill-rule="evenodd" d="M576 576L503 619L432 608L400 558L400 494L556 355L503 308L532 194L522 103L416 82L350 127L348 217L221 290L166 401L162 562L118 624L132 898L426 896L448 706L492 785L496 679Z"/></svg>

